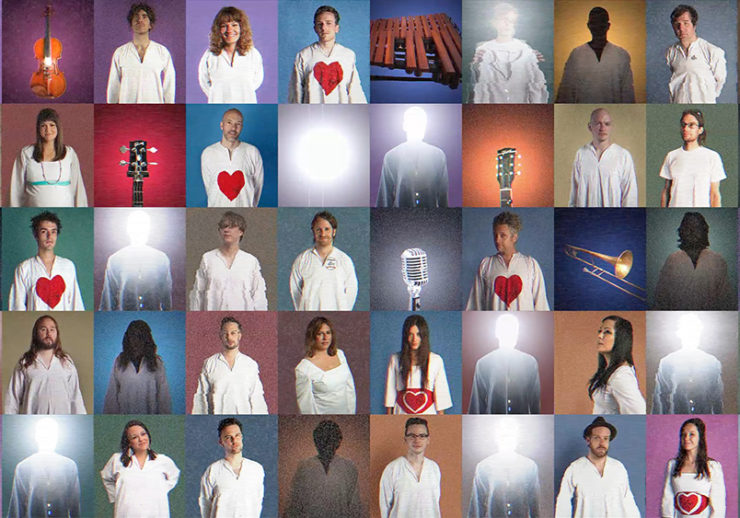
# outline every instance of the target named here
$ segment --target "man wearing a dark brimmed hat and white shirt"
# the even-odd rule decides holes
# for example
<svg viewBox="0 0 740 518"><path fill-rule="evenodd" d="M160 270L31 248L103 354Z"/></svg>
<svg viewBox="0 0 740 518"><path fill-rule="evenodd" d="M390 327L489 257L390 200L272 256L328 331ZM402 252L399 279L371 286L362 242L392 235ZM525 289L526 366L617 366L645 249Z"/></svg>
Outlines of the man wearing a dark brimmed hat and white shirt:
<svg viewBox="0 0 740 518"><path fill-rule="evenodd" d="M588 453L573 461L563 474L556 518L639 518L627 470L607 455L609 442L616 437L617 429L601 416L583 431Z"/></svg>

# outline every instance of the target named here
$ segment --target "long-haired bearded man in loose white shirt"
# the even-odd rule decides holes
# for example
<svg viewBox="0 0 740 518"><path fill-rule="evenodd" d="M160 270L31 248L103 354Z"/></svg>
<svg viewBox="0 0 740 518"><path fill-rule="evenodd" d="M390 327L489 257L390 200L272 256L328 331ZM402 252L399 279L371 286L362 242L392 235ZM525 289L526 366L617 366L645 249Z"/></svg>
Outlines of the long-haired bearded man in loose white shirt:
<svg viewBox="0 0 740 518"><path fill-rule="evenodd" d="M31 348L18 360L5 393L5 413L87 413L77 369L62 350L59 326L49 315L33 325Z"/></svg>

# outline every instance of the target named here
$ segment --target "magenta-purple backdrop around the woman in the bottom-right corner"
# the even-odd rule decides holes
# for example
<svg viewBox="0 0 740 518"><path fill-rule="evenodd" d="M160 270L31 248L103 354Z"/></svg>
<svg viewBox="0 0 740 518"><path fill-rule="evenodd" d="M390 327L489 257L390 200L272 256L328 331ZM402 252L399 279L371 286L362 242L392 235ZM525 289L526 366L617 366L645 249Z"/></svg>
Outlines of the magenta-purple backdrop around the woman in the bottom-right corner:
<svg viewBox="0 0 740 518"><path fill-rule="evenodd" d="M681 424L690 417L701 417L707 425L707 453L722 464L727 492L727 516L737 516L737 416L736 415L649 415L645 437L646 449L646 516L660 515L665 469L678 452ZM619 439L617 439L619 440ZM639 483L639 482L638 482ZM635 482L632 482L634 488Z"/></svg>

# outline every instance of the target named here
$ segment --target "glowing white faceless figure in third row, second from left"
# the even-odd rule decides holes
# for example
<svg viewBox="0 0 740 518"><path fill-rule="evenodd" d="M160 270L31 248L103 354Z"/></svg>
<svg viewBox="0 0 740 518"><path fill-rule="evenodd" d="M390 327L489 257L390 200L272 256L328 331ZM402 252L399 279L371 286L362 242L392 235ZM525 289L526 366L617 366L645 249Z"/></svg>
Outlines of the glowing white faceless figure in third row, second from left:
<svg viewBox="0 0 740 518"><path fill-rule="evenodd" d="M101 311L162 311L172 309L170 260L149 245L151 218L136 210L126 226L131 244L108 258Z"/></svg>

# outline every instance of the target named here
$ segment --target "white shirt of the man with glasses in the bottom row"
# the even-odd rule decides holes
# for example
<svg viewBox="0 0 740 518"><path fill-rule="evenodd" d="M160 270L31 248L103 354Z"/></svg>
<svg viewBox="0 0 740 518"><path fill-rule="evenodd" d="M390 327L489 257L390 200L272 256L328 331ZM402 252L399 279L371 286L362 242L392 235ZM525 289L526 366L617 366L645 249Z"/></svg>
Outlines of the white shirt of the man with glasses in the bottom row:
<svg viewBox="0 0 740 518"><path fill-rule="evenodd" d="M424 459L421 475L406 457L391 461L380 477L382 518L439 518L439 485L442 474L432 459Z"/></svg>

